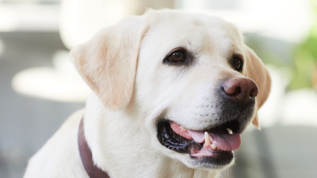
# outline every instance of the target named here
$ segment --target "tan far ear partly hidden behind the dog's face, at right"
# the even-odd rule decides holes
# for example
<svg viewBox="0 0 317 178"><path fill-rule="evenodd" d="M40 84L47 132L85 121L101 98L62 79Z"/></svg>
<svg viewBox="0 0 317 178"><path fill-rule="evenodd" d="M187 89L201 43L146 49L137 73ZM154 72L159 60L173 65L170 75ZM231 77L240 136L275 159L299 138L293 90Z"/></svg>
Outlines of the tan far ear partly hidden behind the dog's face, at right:
<svg viewBox="0 0 317 178"><path fill-rule="evenodd" d="M245 74L250 79L253 79L258 88L259 92L256 97L257 110L264 104L266 99L268 99L268 94L271 88L271 78L268 71L264 67L262 60L256 55L256 53L244 45L246 49L246 70ZM256 116L254 117L252 124L256 126L257 129L260 128L259 118L256 111Z"/></svg>

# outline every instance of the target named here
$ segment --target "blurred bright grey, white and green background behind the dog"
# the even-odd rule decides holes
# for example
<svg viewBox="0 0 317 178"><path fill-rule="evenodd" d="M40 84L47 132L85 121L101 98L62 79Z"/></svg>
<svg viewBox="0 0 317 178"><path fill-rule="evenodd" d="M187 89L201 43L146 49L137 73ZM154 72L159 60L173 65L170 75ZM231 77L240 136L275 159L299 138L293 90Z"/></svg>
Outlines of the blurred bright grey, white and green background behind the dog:
<svg viewBox="0 0 317 178"><path fill-rule="evenodd" d="M90 89L69 50L147 7L235 23L270 71L262 130L243 134L222 177L317 177L317 0L0 0L0 177L22 177L29 157L84 107Z"/></svg>

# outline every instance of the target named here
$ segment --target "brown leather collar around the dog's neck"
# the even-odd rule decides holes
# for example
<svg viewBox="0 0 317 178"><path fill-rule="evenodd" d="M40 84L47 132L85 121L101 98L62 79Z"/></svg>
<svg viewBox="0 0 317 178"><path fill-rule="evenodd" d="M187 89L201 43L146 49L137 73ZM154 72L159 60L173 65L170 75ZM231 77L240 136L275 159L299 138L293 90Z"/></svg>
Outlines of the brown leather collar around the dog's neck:
<svg viewBox="0 0 317 178"><path fill-rule="evenodd" d="M83 118L81 119L78 129L78 148L81 162L90 178L110 178L106 172L98 168L93 162L91 150L87 145L84 135Z"/></svg>

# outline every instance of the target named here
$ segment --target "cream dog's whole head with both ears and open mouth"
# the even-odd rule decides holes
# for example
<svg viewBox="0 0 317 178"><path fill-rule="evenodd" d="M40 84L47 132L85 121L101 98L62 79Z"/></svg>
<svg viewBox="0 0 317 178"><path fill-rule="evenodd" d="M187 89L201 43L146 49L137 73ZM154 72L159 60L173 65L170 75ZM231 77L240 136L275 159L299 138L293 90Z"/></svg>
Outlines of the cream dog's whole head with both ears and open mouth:
<svg viewBox="0 0 317 178"><path fill-rule="evenodd" d="M105 108L133 110L152 149L191 168L230 165L270 90L262 61L217 17L150 10L71 55Z"/></svg>

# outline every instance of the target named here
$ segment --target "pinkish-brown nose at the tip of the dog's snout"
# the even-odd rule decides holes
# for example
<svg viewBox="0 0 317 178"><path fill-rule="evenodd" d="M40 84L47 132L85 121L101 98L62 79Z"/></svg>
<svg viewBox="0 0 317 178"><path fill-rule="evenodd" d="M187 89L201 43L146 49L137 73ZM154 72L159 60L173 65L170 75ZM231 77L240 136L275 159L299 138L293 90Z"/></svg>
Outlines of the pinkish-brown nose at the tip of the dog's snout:
<svg viewBox="0 0 317 178"><path fill-rule="evenodd" d="M224 80L222 84L225 94L233 102L248 103L258 94L256 83L248 78L236 77Z"/></svg>

